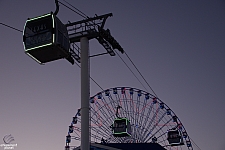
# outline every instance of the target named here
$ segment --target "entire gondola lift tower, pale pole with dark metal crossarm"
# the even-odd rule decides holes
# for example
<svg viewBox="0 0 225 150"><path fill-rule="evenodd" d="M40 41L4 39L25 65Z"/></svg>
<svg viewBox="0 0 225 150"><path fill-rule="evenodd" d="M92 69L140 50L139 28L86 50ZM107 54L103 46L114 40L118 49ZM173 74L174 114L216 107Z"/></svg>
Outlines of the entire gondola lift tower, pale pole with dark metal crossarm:
<svg viewBox="0 0 225 150"><path fill-rule="evenodd" d="M81 150L90 149L90 130L89 130L89 102L90 102L90 61L89 58L89 40L95 38L106 49L106 53L115 56L114 49L124 53L123 48L112 37L110 30L104 29L106 19L111 17L112 13L87 18L85 20L65 24L70 39L70 54L77 62L81 63ZM75 46L80 42L80 48ZM74 60L69 60L72 64ZM89 143L89 144L88 144Z"/></svg>

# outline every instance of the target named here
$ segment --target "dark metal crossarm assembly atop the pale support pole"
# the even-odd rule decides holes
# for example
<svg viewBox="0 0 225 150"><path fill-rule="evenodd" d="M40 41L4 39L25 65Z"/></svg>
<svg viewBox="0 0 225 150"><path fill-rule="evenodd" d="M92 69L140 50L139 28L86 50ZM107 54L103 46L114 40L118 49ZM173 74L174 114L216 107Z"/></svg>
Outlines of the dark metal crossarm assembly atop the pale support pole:
<svg viewBox="0 0 225 150"><path fill-rule="evenodd" d="M111 16L112 16L112 13L108 13L101 16L96 15L93 18L87 17L86 19L81 21L72 22L72 23L68 22L67 24L65 24L68 31L70 44L74 45L76 42L80 42L80 39L82 37L86 37L88 38L88 40L95 38L105 48L107 53L110 54L111 56L116 55L114 52L114 49L117 49L121 53L124 53L123 48L111 35L110 30L104 29L106 19ZM78 51L78 53L76 51ZM79 48L77 49L74 46L72 46L69 49L69 52L73 59L75 59L77 62L80 62ZM102 54L107 54L107 53L102 53ZM99 56L102 54L97 54L94 56ZM67 58L67 60L71 62L72 64L74 63L72 59Z"/></svg>

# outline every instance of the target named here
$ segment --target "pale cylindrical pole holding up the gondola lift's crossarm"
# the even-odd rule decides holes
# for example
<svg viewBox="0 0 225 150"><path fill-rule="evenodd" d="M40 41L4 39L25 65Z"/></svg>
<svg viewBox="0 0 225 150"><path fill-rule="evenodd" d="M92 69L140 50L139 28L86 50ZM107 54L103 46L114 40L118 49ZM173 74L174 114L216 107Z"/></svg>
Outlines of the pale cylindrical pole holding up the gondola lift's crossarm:
<svg viewBox="0 0 225 150"><path fill-rule="evenodd" d="M90 62L89 62L89 41L87 37L82 37L80 39L80 47L81 47L81 150L89 150Z"/></svg>

